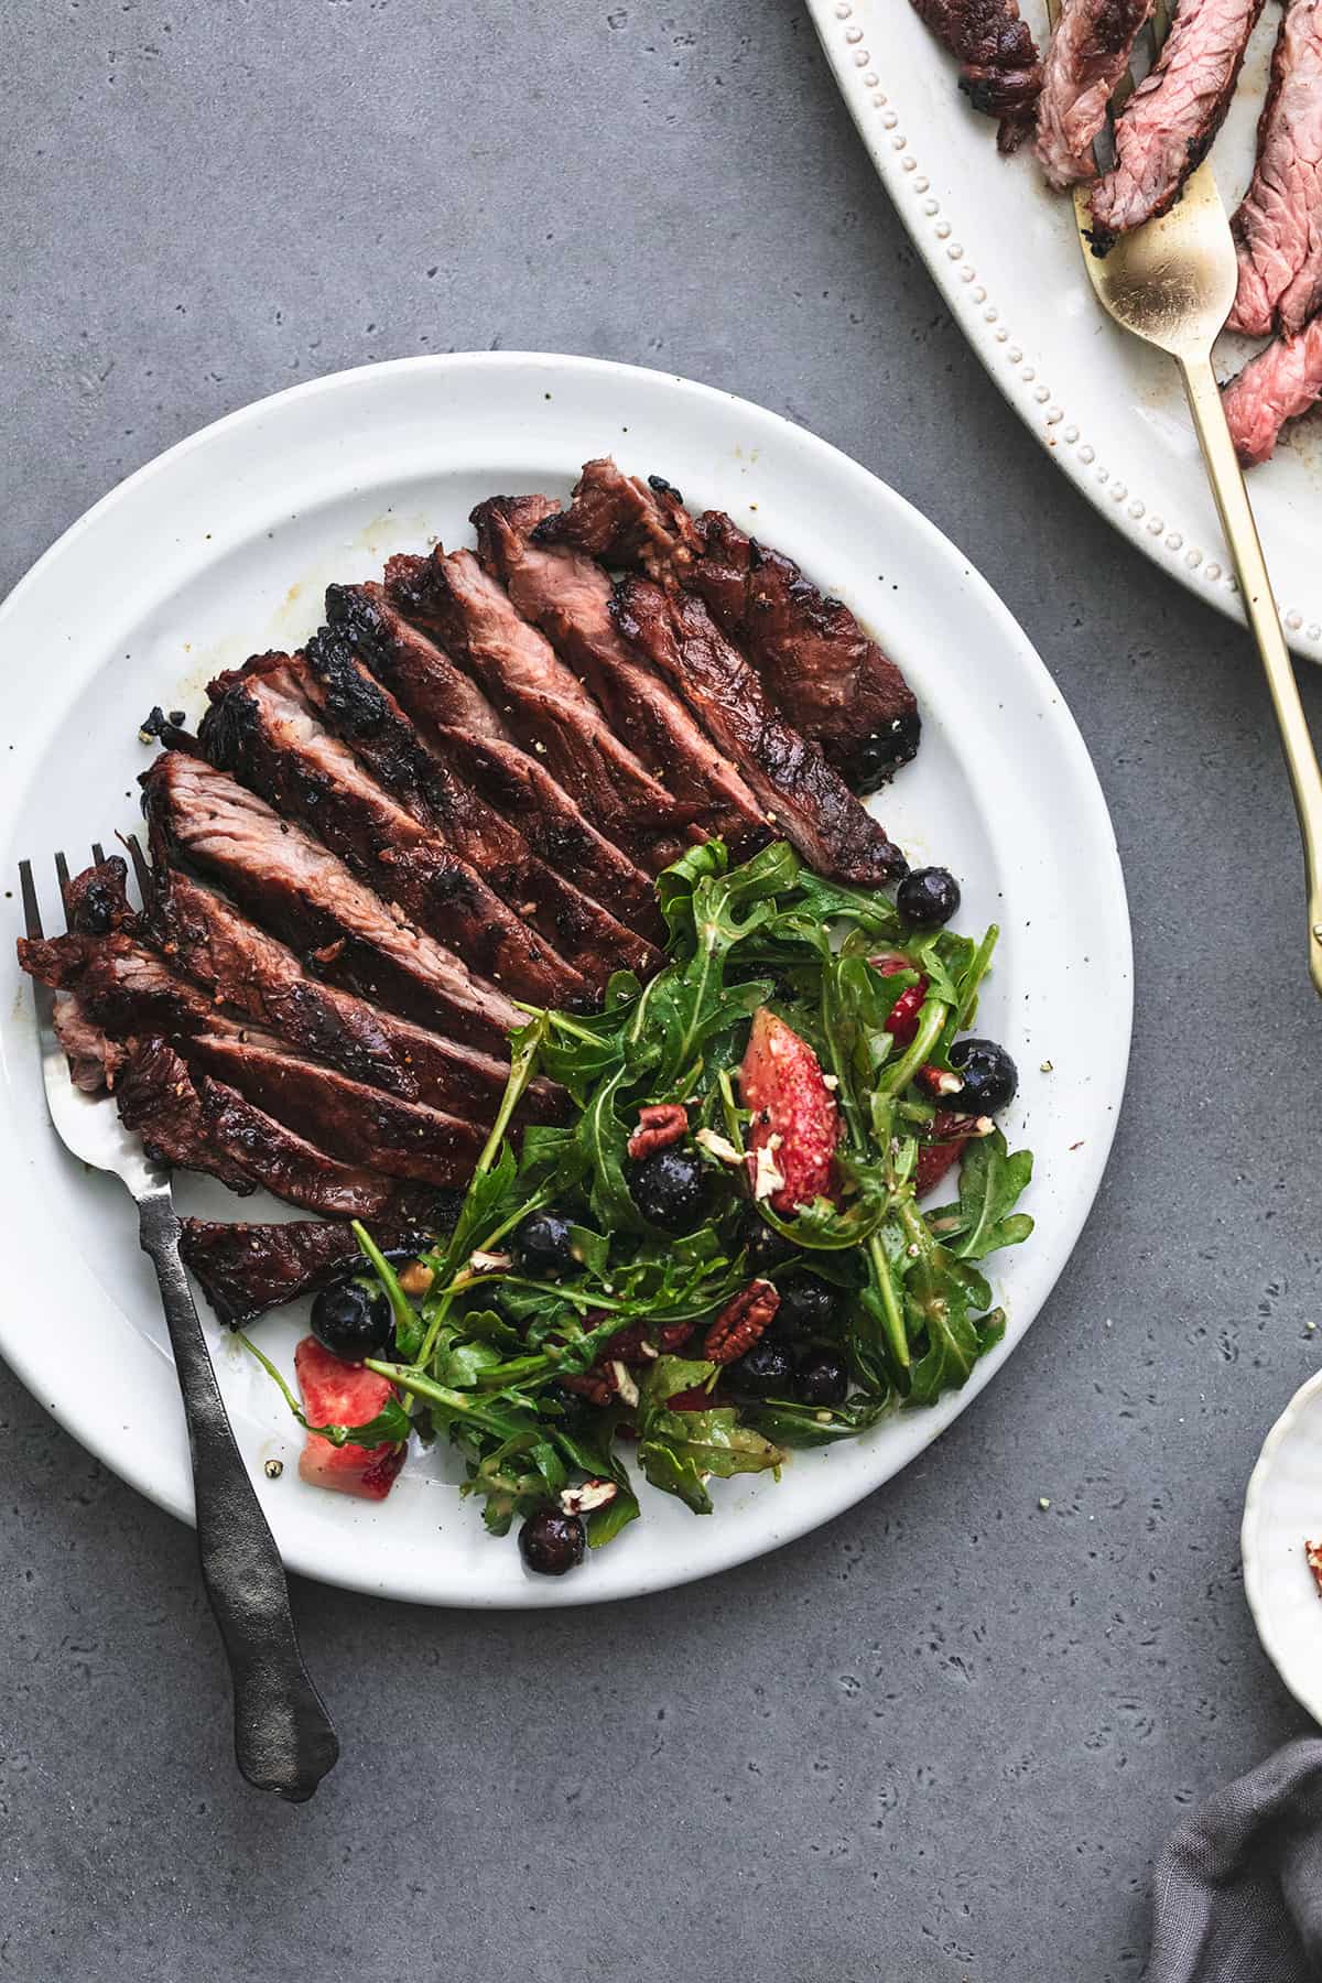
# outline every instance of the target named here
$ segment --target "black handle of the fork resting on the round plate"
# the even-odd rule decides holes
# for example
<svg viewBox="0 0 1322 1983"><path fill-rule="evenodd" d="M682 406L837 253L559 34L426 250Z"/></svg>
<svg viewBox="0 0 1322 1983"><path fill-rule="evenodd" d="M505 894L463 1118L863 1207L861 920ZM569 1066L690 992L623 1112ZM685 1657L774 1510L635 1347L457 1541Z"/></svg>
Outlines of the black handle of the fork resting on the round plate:
<svg viewBox="0 0 1322 1983"><path fill-rule="evenodd" d="M157 1269L184 1400L202 1582L234 1682L234 1755L248 1783L301 1805L335 1767L339 1741L303 1666L285 1569L234 1444L168 1190L139 1200L139 1237Z"/></svg>

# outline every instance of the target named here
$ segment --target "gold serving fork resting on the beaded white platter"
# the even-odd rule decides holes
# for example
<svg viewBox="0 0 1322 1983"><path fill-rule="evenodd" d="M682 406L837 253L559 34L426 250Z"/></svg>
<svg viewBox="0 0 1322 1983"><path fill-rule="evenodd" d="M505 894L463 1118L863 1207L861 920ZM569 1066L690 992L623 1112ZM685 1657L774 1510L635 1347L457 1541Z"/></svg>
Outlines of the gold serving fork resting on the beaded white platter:
<svg viewBox="0 0 1322 1983"><path fill-rule="evenodd" d="M1047 0L1050 26L1060 16L1060 0ZM1157 48L1169 28L1165 6L1157 4L1154 38ZM1128 81L1128 79L1126 79ZM1132 89L1116 91L1118 105ZM1088 186L1074 190L1084 268L1102 307L1144 343L1167 351L1179 365L1189 412L1203 450L1203 466L1217 500L1221 529L1231 549L1239 589L1253 639L1263 656L1267 686L1276 710L1294 811L1304 843L1308 878L1308 972L1322 993L1322 773L1312 748L1304 708L1298 698L1290 650L1280 633L1280 615L1267 575L1263 543L1253 520L1245 478L1235 458L1211 347L1231 313L1237 286L1235 240L1217 192L1211 165L1199 165L1183 196L1169 214L1122 234L1108 254L1092 250Z"/></svg>

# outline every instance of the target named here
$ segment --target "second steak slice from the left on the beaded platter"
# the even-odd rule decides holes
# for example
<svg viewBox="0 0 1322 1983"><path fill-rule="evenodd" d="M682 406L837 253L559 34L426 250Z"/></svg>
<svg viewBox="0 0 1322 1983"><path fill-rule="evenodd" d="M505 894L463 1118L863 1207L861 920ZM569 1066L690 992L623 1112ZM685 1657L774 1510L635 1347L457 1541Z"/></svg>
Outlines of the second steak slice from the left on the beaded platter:
<svg viewBox="0 0 1322 1983"><path fill-rule="evenodd" d="M1092 141L1154 0L1064 0L1043 65L1037 157L1052 186L1096 178Z"/></svg>

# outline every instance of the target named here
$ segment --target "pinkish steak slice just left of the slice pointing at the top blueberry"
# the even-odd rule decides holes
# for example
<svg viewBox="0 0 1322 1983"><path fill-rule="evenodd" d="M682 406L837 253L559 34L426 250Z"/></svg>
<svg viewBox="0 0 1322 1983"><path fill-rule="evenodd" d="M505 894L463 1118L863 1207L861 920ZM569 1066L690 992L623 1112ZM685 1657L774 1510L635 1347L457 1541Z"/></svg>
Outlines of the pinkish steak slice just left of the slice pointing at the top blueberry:
<svg viewBox="0 0 1322 1983"><path fill-rule="evenodd" d="M606 571L569 543L535 541L535 527L557 510L547 496L478 504L472 524L484 565L597 696L640 763L694 809L704 833L737 857L755 853L769 837L757 799L680 696L620 639Z"/></svg>

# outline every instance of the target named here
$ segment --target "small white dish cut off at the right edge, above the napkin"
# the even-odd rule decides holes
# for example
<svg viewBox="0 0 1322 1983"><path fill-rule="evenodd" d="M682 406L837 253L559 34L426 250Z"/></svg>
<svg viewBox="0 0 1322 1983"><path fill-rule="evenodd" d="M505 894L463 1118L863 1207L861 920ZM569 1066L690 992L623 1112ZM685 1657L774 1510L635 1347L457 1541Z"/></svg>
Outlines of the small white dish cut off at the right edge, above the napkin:
<svg viewBox="0 0 1322 1983"><path fill-rule="evenodd" d="M1322 1543L1322 1370L1267 1434L1245 1495L1245 1596L1263 1650L1286 1688L1322 1721L1322 1596L1304 1543Z"/></svg>

